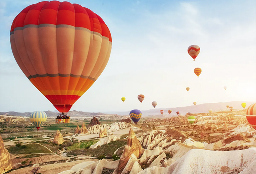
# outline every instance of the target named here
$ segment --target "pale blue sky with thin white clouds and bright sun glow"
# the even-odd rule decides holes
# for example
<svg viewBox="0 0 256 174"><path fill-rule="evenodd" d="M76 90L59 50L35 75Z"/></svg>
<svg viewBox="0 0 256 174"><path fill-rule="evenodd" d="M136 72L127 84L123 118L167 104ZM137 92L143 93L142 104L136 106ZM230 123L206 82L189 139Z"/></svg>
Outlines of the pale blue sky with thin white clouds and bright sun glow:
<svg viewBox="0 0 256 174"><path fill-rule="evenodd" d="M0 1L0 111L55 107L18 67L10 46L15 16L37 0ZM61 1L62 2L62 1ZM109 62L71 110L87 112L256 102L256 1L70 0L101 16L112 35ZM196 61L190 45L201 49ZM197 78L195 68L202 73ZM227 86L224 90L223 87ZM190 87L190 91L186 90ZM142 103L137 99L144 94ZM124 102L121 97L125 97Z"/></svg>

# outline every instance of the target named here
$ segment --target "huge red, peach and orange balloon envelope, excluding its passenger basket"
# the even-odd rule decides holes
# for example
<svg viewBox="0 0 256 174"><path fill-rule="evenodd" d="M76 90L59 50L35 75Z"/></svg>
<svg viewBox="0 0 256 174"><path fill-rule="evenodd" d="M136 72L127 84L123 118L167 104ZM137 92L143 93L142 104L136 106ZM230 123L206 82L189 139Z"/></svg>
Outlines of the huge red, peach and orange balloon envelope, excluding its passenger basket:
<svg viewBox="0 0 256 174"><path fill-rule="evenodd" d="M98 79L112 47L100 16L59 1L23 9L12 22L10 42L22 72L59 112L68 112Z"/></svg>

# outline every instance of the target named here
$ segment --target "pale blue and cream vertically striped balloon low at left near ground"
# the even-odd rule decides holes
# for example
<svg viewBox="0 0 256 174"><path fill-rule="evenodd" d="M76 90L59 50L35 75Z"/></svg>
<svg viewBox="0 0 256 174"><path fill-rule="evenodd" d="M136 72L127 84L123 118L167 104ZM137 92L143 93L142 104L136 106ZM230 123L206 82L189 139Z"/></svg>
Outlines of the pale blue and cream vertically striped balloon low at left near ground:
<svg viewBox="0 0 256 174"><path fill-rule="evenodd" d="M29 116L30 121L36 126L37 130L44 124L47 119L47 115L43 111L32 112Z"/></svg>

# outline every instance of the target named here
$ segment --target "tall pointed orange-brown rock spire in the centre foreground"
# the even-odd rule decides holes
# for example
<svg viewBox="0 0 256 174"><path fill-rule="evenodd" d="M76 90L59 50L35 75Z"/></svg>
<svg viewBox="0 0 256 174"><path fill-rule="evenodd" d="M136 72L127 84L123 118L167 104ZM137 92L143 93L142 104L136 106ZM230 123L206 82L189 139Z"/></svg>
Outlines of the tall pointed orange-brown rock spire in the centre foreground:
<svg viewBox="0 0 256 174"><path fill-rule="evenodd" d="M142 148L139 140L136 138L136 135L133 132L133 129L130 129L129 135L127 137L127 145L124 147L124 151L120 157L116 173L122 173L132 154L134 154L136 158L139 158L144 151L145 149Z"/></svg>

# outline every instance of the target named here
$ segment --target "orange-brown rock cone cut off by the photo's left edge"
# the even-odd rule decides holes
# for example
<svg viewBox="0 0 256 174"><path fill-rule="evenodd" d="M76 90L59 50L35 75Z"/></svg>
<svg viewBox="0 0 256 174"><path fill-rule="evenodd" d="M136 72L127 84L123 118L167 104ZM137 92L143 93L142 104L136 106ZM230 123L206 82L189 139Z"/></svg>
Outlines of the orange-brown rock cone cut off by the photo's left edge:
<svg viewBox="0 0 256 174"><path fill-rule="evenodd" d="M0 174L11 170L12 164L10 160L10 154L4 147L4 142L0 136Z"/></svg>

